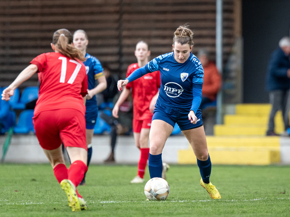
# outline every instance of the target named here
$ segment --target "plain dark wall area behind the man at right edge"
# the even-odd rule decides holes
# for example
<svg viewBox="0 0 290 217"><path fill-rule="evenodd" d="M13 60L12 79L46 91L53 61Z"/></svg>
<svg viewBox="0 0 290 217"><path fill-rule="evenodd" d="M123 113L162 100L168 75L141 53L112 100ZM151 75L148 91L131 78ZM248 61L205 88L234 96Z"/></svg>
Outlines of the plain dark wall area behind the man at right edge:
<svg viewBox="0 0 290 217"><path fill-rule="evenodd" d="M271 52L289 35L290 0L243 0L243 102L268 103L265 73Z"/></svg>

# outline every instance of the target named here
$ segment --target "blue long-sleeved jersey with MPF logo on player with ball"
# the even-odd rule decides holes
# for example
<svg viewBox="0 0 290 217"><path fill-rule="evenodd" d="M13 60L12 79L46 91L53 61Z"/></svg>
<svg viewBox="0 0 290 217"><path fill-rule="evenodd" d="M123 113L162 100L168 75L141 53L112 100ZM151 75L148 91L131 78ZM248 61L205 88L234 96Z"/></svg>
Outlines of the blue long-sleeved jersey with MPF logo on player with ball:
<svg viewBox="0 0 290 217"><path fill-rule="evenodd" d="M203 68L197 57L190 53L184 63L178 63L173 52L166 53L136 69L126 79L131 82L157 70L161 74L161 87L156 104L181 107L196 114L203 84Z"/></svg>

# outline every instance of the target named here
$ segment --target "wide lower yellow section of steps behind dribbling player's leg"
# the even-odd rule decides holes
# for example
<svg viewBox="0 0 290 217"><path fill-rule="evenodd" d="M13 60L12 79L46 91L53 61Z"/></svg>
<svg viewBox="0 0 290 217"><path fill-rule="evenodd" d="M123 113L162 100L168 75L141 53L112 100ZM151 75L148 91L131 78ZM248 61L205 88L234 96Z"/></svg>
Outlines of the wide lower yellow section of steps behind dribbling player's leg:
<svg viewBox="0 0 290 217"><path fill-rule="evenodd" d="M280 162L280 137L206 137L212 164L269 165ZM178 151L178 164L196 164L191 147Z"/></svg>

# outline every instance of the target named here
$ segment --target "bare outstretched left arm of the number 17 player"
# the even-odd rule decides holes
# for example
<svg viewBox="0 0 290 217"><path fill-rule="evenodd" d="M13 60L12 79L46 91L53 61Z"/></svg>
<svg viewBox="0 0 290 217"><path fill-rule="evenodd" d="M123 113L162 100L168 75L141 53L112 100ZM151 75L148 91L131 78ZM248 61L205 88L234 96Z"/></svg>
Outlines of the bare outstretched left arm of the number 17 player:
<svg viewBox="0 0 290 217"><path fill-rule="evenodd" d="M1 94L2 100L8 101L10 97L13 96L14 90L24 81L28 80L37 71L38 68L34 64L30 64L24 68L15 78L15 80L6 89L3 90Z"/></svg>

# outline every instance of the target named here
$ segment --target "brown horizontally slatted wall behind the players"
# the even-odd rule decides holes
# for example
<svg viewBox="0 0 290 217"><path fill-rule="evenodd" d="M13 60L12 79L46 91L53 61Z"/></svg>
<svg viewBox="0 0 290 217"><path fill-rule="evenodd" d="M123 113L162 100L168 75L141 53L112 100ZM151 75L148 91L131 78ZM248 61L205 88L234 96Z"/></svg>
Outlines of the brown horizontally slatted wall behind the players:
<svg viewBox="0 0 290 217"><path fill-rule="evenodd" d="M223 1L224 62L234 42L233 7L233 0ZM206 47L215 59L215 0L1 0L0 86L8 85L33 57L50 52L59 28L72 33L84 29L87 52L122 77L136 62L137 41L149 43L151 58L170 52L173 32L184 23L195 33L193 53ZM21 87L36 81L33 76Z"/></svg>

